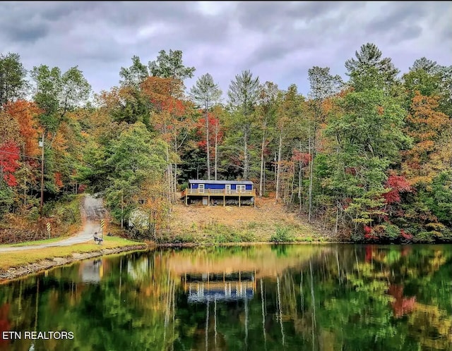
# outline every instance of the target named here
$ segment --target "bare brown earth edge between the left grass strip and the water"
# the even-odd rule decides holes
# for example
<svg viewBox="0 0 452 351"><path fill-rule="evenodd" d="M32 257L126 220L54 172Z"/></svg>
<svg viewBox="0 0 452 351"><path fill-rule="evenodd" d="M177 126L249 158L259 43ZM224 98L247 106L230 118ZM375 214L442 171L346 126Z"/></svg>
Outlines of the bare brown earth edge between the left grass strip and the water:
<svg viewBox="0 0 452 351"><path fill-rule="evenodd" d="M11 281L11 279L19 278L21 276L25 276L31 273L39 273L40 271L45 271L56 266L71 264L76 261L81 261L82 259L90 259L93 257L103 256L105 254L117 254L119 252L145 250L147 248L148 248L147 245L131 245L124 247L114 247L112 249L102 249L93 252L83 252L83 253L73 252L73 254L66 257L53 257L42 259L40 261L32 262L30 264L0 270L0 283L6 283L6 281Z"/></svg>

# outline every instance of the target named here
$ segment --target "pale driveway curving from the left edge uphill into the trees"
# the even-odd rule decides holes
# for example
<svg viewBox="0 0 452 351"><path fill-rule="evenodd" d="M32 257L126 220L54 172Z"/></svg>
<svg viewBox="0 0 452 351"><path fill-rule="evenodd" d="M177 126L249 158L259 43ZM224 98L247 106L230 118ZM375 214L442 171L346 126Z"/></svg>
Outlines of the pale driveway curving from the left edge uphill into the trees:
<svg viewBox="0 0 452 351"><path fill-rule="evenodd" d="M48 244L0 247L0 252L41 249L43 247L69 246L93 240L94 233L100 232L100 220L105 216L105 209L102 206L102 199L97 199L96 197L93 197L93 195L86 195L83 199L83 209L85 211L84 216L86 218L83 230L78 232L76 235L71 236L71 238L57 242L49 242Z"/></svg>

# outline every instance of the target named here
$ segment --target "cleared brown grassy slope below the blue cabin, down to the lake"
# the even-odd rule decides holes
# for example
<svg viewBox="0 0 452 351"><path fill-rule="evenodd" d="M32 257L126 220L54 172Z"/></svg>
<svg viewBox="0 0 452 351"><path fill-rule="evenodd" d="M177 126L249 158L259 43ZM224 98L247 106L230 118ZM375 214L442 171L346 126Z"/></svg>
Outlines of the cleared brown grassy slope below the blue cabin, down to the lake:
<svg viewBox="0 0 452 351"><path fill-rule="evenodd" d="M328 236L305 218L286 211L274 197L257 199L256 207L185 206L179 202L169 222L169 241L268 242L277 230L280 236L300 242L326 241Z"/></svg>

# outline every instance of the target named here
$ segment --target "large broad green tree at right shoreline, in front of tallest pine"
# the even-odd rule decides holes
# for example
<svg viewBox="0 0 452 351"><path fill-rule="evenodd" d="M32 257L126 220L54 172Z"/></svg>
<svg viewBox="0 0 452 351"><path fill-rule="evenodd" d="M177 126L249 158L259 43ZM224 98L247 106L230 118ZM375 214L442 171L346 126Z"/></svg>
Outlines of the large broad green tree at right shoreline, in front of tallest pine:
<svg viewBox="0 0 452 351"><path fill-rule="evenodd" d="M331 119L326 135L332 137L335 154L328 188L352 223L355 238L363 226L383 216L384 184L400 149L409 146L403 133L405 112L383 90L350 92L340 100L345 114Z"/></svg>

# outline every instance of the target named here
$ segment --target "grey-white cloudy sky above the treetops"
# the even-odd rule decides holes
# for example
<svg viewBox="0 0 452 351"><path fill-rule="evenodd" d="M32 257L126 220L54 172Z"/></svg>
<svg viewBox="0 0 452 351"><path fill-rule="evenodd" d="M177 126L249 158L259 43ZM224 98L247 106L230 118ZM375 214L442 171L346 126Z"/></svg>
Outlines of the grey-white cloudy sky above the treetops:
<svg viewBox="0 0 452 351"><path fill-rule="evenodd" d="M371 42L405 73L425 56L452 64L451 1L1 1L0 53L28 70L78 66L95 92L119 83L137 55L182 50L223 92L242 70L280 89L309 92L308 69L344 63Z"/></svg>

